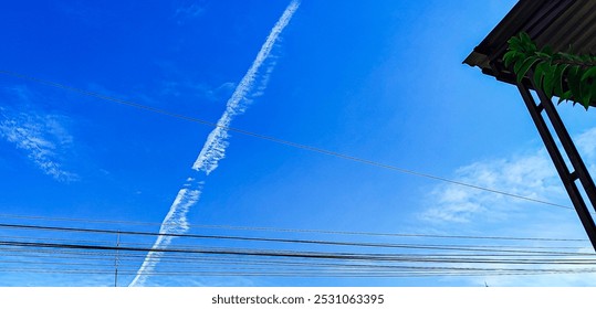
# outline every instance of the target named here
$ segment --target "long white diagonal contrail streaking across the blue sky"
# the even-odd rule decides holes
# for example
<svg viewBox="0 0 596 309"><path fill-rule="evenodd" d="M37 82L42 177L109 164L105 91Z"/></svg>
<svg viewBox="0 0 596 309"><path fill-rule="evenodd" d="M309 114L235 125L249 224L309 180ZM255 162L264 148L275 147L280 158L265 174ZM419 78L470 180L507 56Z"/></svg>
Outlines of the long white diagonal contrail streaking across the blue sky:
<svg viewBox="0 0 596 309"><path fill-rule="evenodd" d="M217 127L209 134L201 152L192 164L192 170L195 170L197 173L201 173L201 177L209 175L209 173L217 169L219 160L226 157L226 148L228 147L227 139L229 136L224 128L230 126L236 116L241 115L245 110L248 104L250 103L249 95L253 90L253 84L257 79L259 70L268 60L280 33L287 25L299 6L300 0L292 0L292 2L290 2L280 20L278 20L278 23L275 23L271 30L271 33L269 33L265 43L261 46L261 50L259 51L259 54L257 54L257 58L252 62L251 67L247 74L244 74L244 77L242 77L240 84L238 84L236 87L236 90L230 99L228 99L226 111L218 120ZM265 81L264 83L266 83L271 70L272 67L266 70L263 76ZM263 87L260 87L258 90L262 92ZM199 201L202 184L202 181L198 181L195 178L189 178L187 180L184 188L178 192L176 200L171 204L168 214L161 223L161 227L159 228L160 234L180 234L188 231L189 227L187 222L187 213L190 207ZM167 247L172 239L172 236L159 236L155 241L151 249ZM160 257L161 253L155 251L149 252L129 286L143 286L147 279L147 276L150 275L151 270L154 270L156 265L159 263Z"/></svg>

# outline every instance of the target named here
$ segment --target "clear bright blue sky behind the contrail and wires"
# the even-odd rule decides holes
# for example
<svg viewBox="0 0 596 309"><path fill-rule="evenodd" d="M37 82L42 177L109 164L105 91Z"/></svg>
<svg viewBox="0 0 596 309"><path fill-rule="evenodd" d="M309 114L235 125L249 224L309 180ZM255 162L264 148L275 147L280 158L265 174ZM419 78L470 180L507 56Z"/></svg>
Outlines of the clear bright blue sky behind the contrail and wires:
<svg viewBox="0 0 596 309"><path fill-rule="evenodd" d="M515 1L299 3L245 88L243 113L231 127L569 204L516 89L461 64ZM0 12L7 30L0 70L217 122L287 6L11 2ZM10 75L0 76L0 99L2 214L160 223L190 185L200 192L184 214L190 225L586 238L569 210L233 131L217 170L206 174L191 168L213 127ZM593 168L594 113L566 104L560 111ZM171 239L168 246L181 244ZM136 262L140 266L143 258ZM0 274L2 285L109 285L105 277ZM149 277L146 285L174 286L594 283L590 274ZM123 276L123 285L133 278Z"/></svg>

